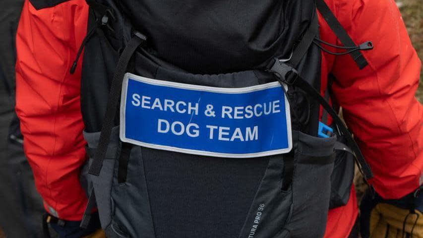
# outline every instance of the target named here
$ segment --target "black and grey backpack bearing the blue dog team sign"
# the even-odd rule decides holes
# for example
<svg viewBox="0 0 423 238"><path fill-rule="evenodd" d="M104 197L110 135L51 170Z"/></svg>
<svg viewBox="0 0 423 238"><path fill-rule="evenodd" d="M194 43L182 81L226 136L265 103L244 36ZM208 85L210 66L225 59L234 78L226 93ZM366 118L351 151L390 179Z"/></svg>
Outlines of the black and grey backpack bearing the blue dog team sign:
<svg viewBox="0 0 423 238"><path fill-rule="evenodd" d="M372 45L354 44L323 0L87 3L81 227L97 206L110 238L323 237L353 160L372 177L319 93L322 45L360 68ZM343 47L318 38L316 6Z"/></svg>

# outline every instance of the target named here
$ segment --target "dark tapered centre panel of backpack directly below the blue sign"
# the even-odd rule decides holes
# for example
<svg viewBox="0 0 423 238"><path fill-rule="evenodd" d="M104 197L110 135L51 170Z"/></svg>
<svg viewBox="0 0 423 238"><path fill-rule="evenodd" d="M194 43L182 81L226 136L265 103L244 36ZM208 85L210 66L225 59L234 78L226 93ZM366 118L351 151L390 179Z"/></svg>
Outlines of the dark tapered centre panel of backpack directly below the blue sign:
<svg viewBox="0 0 423 238"><path fill-rule="evenodd" d="M142 155L157 238L237 238L269 162L148 148Z"/></svg>

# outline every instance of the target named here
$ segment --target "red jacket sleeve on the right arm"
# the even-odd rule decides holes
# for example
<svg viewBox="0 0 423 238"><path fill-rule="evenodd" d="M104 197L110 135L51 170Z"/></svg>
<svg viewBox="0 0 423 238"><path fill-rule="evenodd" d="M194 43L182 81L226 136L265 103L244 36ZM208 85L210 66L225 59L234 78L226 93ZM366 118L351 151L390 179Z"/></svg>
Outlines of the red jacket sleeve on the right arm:
<svg viewBox="0 0 423 238"><path fill-rule="evenodd" d="M415 98L419 60L393 0L332 0L356 44L372 41L359 70L350 56L334 60L336 101L384 198L400 198L422 184L423 107Z"/></svg>

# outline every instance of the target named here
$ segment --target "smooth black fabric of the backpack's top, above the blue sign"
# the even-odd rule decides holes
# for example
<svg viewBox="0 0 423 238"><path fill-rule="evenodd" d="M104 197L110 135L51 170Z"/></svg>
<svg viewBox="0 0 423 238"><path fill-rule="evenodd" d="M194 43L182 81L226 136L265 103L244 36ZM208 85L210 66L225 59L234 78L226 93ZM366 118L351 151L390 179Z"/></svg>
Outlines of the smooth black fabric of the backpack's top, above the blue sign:
<svg viewBox="0 0 423 238"><path fill-rule="evenodd" d="M309 0L101 0L118 4L157 56L192 73L243 71L291 53Z"/></svg>

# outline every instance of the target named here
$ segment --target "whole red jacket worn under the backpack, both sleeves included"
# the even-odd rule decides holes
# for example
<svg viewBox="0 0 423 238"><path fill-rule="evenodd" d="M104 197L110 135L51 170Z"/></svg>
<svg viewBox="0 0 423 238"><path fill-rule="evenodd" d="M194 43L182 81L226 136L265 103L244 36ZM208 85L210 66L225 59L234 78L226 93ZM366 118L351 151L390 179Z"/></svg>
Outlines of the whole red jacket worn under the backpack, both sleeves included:
<svg viewBox="0 0 423 238"><path fill-rule="evenodd" d="M423 181L423 107L416 100L421 61L394 0L326 0L363 52L359 70L350 56L322 53L321 93L332 73L336 101L374 173L371 183L384 198L400 198ZM87 201L79 185L86 161L80 113L81 63L69 68L86 34L85 0L36 10L26 0L17 32L16 111L24 148L46 209L80 220ZM319 16L320 37L340 44ZM335 49L332 49L333 51ZM328 215L326 237L347 237L358 214L355 193Z"/></svg>

